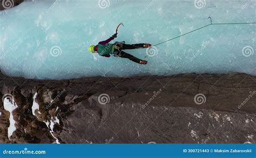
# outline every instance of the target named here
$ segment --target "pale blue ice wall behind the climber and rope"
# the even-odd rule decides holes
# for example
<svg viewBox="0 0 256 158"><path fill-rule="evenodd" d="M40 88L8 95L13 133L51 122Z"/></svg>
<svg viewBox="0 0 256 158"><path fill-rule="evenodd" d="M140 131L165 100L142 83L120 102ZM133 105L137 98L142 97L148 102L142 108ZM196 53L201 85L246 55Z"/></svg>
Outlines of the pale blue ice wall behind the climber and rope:
<svg viewBox="0 0 256 158"><path fill-rule="evenodd" d="M255 1L31 1L0 11L0 68L12 76L90 76L244 72L256 75L256 25L211 25L147 51L147 65L87 50L111 36L157 44L210 23L255 22Z"/></svg>

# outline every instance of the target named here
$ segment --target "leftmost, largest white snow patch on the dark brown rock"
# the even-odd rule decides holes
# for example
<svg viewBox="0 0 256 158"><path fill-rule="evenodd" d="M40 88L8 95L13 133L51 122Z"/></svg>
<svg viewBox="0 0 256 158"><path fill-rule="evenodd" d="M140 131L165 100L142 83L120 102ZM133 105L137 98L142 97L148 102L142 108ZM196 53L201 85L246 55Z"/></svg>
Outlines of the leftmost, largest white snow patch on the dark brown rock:
<svg viewBox="0 0 256 158"><path fill-rule="evenodd" d="M12 111L14 111L18 106L16 105L14 100L9 100L7 98L4 98L4 109L6 111L10 112L10 126L8 127L8 138L10 139L10 136L12 135L12 133L14 133L14 131L17 129L15 124L16 121L14 120L14 115L12 114Z"/></svg>

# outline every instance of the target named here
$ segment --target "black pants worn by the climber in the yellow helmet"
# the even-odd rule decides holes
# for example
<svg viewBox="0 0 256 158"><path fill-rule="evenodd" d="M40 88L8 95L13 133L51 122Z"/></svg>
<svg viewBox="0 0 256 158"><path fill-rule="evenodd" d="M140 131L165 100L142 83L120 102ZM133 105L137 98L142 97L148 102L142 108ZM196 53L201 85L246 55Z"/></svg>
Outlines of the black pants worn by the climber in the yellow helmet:
<svg viewBox="0 0 256 158"><path fill-rule="evenodd" d="M126 53L122 50L133 50L133 49L140 49L140 48L143 48L143 47L144 47L144 43L141 43L141 44L122 44L122 49L121 50L115 49L114 50L114 55L116 55L116 57L130 59L133 62L140 64L141 59L136 58L136 57L132 56L131 54L128 54L128 53Z"/></svg>

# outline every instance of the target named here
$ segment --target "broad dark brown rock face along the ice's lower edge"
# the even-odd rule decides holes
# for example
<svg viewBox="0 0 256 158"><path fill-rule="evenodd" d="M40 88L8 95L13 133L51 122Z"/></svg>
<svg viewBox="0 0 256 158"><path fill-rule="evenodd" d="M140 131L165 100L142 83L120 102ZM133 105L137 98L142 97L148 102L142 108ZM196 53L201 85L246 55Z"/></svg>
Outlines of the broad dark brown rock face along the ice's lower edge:
<svg viewBox="0 0 256 158"><path fill-rule="evenodd" d="M0 78L1 97L18 106L8 139L0 102L2 143L255 143L251 75Z"/></svg>

